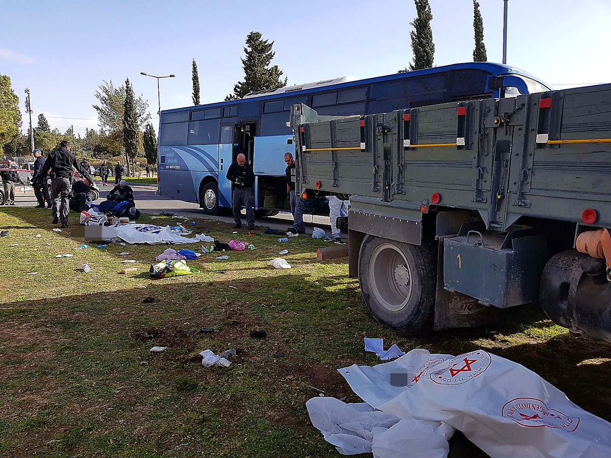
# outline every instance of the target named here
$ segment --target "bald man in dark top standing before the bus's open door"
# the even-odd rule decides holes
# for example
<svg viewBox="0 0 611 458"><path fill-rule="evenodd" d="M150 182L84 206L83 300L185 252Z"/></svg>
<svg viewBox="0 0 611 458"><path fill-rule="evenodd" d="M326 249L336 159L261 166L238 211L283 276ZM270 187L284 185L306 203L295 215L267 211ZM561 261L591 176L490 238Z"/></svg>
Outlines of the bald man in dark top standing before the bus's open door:
<svg viewBox="0 0 611 458"><path fill-rule="evenodd" d="M255 173L252 167L246 164L246 156L240 153L227 169L227 180L231 181L231 189L233 191L232 208L233 220L235 225L233 228L242 227L242 205L246 207L246 224L249 229L255 227L255 213L252 209L252 188L255 186Z"/></svg>

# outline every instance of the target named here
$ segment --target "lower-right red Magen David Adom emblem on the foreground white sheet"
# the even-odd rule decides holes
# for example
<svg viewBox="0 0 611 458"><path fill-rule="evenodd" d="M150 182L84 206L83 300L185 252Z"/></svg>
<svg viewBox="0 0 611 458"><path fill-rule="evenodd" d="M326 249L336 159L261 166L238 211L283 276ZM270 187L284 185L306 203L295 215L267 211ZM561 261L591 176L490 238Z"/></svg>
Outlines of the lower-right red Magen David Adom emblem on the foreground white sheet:
<svg viewBox="0 0 611 458"><path fill-rule="evenodd" d="M537 398L511 399L503 405L501 415L520 426L532 428L547 426L567 432L575 431L580 423L579 416L568 416L560 410L549 409L545 402Z"/></svg>

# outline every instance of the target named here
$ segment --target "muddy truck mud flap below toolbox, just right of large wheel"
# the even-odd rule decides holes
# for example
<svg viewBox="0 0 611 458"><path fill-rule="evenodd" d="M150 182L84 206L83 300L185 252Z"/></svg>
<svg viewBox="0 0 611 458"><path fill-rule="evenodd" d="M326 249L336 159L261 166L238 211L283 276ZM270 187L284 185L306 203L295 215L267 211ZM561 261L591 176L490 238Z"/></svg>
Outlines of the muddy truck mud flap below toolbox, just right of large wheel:
<svg viewBox="0 0 611 458"><path fill-rule="evenodd" d="M478 304L477 299L444 289L444 243L439 242L437 256L437 293L434 330L472 327L496 321L496 307Z"/></svg>

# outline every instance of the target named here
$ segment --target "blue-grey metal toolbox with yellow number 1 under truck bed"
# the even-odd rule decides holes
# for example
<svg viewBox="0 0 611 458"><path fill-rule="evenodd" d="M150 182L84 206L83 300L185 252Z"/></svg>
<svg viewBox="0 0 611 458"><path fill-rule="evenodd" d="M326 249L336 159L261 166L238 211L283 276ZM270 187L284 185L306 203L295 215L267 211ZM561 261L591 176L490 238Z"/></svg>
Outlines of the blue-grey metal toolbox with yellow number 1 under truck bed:
<svg viewBox="0 0 611 458"><path fill-rule="evenodd" d="M464 224L444 243L444 288L500 308L536 302L552 255L547 236L530 229L485 233Z"/></svg>

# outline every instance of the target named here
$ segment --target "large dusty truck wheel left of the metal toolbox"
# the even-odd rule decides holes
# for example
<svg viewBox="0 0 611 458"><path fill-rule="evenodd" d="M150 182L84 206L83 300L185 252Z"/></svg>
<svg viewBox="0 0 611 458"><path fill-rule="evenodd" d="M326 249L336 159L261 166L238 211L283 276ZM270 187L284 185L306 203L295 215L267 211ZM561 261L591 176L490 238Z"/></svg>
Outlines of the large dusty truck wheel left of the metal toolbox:
<svg viewBox="0 0 611 458"><path fill-rule="evenodd" d="M359 282L373 317L400 335L432 330L437 266L428 245L368 235L360 245Z"/></svg>

